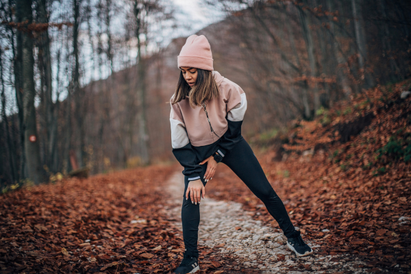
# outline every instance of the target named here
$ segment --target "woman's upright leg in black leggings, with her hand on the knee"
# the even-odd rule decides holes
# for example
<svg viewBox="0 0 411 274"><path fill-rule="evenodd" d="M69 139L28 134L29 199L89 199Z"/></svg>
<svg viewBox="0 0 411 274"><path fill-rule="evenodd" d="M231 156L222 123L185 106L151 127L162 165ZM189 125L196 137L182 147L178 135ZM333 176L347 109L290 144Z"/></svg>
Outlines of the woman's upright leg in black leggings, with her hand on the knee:
<svg viewBox="0 0 411 274"><path fill-rule="evenodd" d="M207 163L201 165L203 171L201 171L201 182L206 186L206 182L203 179L204 174L206 174ZM188 188L188 177L184 176L184 196L182 205L182 225L183 225L183 238L184 246L186 247L186 253L191 256L199 257L199 251L197 249L197 242L199 238L199 223L200 223L200 204L191 202L190 196L186 200L186 191Z"/></svg>

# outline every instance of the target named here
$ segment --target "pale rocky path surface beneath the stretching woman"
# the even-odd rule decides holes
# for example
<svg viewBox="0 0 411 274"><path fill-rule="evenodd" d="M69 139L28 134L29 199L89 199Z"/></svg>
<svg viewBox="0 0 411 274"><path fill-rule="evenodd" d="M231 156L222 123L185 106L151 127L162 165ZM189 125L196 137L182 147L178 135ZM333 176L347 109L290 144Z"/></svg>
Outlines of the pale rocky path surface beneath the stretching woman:
<svg viewBox="0 0 411 274"><path fill-rule="evenodd" d="M167 214L181 220L184 175L175 171L169 182ZM321 256L315 254L319 245L308 242L314 249L312 256L297 258L286 247L286 237L279 229L263 225L251 218L252 212L242 209L240 203L201 200L199 246L219 247L219 252L236 258L239 265L260 270L261 273L369 273L365 264L349 256ZM181 221L175 223L182 229ZM238 269L240 270L240 269Z"/></svg>

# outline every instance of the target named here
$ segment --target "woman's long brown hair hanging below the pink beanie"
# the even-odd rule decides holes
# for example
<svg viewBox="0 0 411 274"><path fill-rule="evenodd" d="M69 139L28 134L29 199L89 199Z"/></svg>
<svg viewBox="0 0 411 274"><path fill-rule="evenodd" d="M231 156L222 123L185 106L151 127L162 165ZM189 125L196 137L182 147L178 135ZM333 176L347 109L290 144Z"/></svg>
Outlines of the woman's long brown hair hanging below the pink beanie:
<svg viewBox="0 0 411 274"><path fill-rule="evenodd" d="M197 80L193 87L187 84L182 71L180 71L177 88L171 103L178 103L188 97L191 108L201 105L201 102L219 97L219 87L212 75L212 71L197 69Z"/></svg>

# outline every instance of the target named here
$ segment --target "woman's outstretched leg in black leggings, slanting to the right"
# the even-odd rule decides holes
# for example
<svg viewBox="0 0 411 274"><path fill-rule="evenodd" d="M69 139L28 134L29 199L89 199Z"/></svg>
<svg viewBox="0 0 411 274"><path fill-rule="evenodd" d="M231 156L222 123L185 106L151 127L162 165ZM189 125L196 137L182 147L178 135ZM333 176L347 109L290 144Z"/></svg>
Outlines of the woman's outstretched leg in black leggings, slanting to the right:
<svg viewBox="0 0 411 274"><path fill-rule="evenodd" d="M266 206L284 235L289 238L295 231L284 203L266 178L264 171L247 141L242 138L222 161L244 182Z"/></svg>

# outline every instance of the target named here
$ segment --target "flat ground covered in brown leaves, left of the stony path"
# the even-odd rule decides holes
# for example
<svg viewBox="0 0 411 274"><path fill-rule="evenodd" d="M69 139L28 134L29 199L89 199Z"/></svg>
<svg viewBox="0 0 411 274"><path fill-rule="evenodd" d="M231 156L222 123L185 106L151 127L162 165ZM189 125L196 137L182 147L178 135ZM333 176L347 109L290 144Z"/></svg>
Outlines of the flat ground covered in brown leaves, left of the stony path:
<svg viewBox="0 0 411 274"><path fill-rule="evenodd" d="M176 168L149 166L0 196L1 273L171 273L184 251L182 232L159 212ZM236 266L214 249L200 251L212 262L203 273Z"/></svg>

